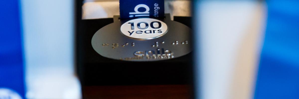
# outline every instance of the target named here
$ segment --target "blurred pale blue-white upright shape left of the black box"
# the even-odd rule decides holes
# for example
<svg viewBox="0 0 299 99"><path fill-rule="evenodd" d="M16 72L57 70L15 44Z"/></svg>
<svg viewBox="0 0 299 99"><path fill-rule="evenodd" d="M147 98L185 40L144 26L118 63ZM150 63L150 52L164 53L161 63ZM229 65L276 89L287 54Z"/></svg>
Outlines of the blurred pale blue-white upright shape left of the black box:
<svg viewBox="0 0 299 99"><path fill-rule="evenodd" d="M74 71L74 1L21 0L26 98L79 99Z"/></svg>

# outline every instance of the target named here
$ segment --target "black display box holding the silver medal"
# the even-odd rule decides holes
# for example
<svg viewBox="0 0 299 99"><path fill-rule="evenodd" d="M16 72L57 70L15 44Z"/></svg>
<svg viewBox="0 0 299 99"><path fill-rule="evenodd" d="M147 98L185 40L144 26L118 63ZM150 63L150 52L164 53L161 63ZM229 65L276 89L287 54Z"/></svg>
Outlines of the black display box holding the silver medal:
<svg viewBox="0 0 299 99"><path fill-rule="evenodd" d="M191 26L190 17L174 21ZM128 62L101 56L91 46L91 38L113 18L80 20L76 34L77 72L82 86L190 84L192 52L174 59L153 62Z"/></svg>

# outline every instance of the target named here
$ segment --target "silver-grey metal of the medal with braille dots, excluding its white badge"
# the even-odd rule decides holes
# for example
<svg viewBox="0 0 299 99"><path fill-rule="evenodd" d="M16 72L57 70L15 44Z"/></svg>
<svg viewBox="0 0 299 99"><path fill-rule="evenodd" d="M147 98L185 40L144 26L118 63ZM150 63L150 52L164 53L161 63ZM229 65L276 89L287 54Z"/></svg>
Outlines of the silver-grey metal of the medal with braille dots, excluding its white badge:
<svg viewBox="0 0 299 99"><path fill-rule="evenodd" d="M125 61L158 61L173 59L191 52L191 44L177 43L190 41L191 29L182 23L171 21L169 14L166 14L166 18L161 20L168 26L167 33L151 40L133 39L124 36L120 33L120 26L126 21L119 21L118 18L119 16L115 16L114 23L101 28L92 37L91 45L101 56ZM177 45L170 43L173 41ZM161 42L161 44L157 42ZM117 43L117 45L112 45L113 43ZM118 47L118 43L120 45L131 43L132 45Z"/></svg>

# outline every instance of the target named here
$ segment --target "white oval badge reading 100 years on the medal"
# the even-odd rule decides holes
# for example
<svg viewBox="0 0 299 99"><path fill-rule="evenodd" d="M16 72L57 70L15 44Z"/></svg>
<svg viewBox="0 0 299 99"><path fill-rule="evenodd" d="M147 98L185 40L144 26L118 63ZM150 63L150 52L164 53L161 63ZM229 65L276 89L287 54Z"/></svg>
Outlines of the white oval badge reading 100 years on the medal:
<svg viewBox="0 0 299 99"><path fill-rule="evenodd" d="M120 32L135 39L154 39L166 34L168 27L166 23L152 18L138 18L123 23Z"/></svg>

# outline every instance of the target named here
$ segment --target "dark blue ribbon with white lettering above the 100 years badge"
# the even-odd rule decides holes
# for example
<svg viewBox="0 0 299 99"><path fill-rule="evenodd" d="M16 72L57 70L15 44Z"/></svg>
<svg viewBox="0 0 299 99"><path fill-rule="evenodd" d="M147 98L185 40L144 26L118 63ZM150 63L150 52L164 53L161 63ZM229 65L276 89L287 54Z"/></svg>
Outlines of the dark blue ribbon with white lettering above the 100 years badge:
<svg viewBox="0 0 299 99"><path fill-rule="evenodd" d="M164 0L120 0L120 18L164 17Z"/></svg>

